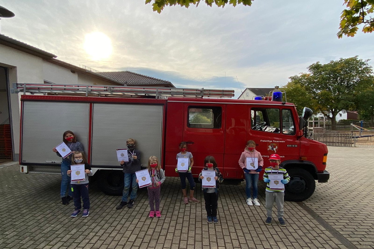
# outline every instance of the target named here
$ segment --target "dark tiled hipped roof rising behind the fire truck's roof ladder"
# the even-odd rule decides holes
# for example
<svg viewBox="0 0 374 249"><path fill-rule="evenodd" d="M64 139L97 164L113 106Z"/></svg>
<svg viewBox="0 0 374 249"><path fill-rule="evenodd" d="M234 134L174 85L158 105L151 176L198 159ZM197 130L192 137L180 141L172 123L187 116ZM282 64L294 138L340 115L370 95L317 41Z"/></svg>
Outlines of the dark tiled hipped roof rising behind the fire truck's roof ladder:
<svg viewBox="0 0 374 249"><path fill-rule="evenodd" d="M97 74L111 78L128 86L175 87L170 81L161 80L131 71L97 72Z"/></svg>

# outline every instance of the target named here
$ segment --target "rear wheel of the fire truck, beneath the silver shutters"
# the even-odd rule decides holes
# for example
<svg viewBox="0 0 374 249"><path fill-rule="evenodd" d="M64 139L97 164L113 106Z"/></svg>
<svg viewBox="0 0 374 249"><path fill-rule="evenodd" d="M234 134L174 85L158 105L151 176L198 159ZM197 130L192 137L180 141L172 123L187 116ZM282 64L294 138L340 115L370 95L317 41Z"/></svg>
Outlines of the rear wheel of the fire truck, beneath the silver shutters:
<svg viewBox="0 0 374 249"><path fill-rule="evenodd" d="M98 175L98 186L108 195L122 195L123 172L119 170L102 170Z"/></svg>

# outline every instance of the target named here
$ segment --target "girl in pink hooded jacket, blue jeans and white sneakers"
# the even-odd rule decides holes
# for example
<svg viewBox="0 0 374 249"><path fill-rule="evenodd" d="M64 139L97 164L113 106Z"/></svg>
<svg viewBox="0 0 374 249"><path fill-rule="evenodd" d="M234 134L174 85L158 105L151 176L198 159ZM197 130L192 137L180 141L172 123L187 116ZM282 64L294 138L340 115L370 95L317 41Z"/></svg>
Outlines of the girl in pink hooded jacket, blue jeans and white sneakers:
<svg viewBox="0 0 374 249"><path fill-rule="evenodd" d="M260 202L257 199L257 183L263 165L264 159L260 152L256 150L255 141L249 140L239 158L239 166L244 171L246 202L249 206L253 206L252 200L256 206L260 206ZM253 188L253 197L251 196L251 186Z"/></svg>

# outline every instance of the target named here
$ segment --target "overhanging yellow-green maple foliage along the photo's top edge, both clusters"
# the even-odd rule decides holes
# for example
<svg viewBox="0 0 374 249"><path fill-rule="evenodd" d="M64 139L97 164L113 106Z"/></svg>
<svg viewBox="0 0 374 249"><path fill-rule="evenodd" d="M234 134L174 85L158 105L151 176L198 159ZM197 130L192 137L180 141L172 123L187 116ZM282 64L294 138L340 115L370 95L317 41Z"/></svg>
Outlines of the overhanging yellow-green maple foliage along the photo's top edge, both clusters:
<svg viewBox="0 0 374 249"><path fill-rule="evenodd" d="M153 11L161 13L165 6L180 5L188 8L193 4L197 7L201 1L211 7L212 5L224 7L226 4L251 6L254 0L145 0L145 4L153 2ZM354 36L361 24L364 24L362 28L364 33L374 31L374 19L368 16L374 11L374 0L344 0L344 5L347 8L341 12L338 38L343 35Z"/></svg>

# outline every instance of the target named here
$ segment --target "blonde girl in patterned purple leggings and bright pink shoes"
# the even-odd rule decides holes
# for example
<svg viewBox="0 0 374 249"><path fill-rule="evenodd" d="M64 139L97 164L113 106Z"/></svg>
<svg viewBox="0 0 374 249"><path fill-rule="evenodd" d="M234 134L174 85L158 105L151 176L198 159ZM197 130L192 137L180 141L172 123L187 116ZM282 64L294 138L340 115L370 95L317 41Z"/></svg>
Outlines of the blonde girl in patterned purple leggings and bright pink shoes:
<svg viewBox="0 0 374 249"><path fill-rule="evenodd" d="M153 218L154 215L156 214L156 217L160 218L161 217L161 212L160 212L161 184L165 181L166 177L159 163L159 159L157 159L156 156L151 156L148 159L148 172L149 172L149 175L152 181L152 185L148 186L149 207L151 209L148 217ZM137 183L138 182L139 180L137 179ZM154 206L156 206L156 211L154 209Z"/></svg>

